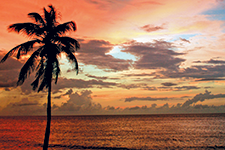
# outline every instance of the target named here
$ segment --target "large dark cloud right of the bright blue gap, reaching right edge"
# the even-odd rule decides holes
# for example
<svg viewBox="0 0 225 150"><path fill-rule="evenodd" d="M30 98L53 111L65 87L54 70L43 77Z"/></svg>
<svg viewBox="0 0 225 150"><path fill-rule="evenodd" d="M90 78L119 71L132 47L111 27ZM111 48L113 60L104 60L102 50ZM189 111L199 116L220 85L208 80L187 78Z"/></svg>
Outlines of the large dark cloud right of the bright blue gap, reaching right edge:
<svg viewBox="0 0 225 150"><path fill-rule="evenodd" d="M157 71L151 74L137 74L136 76L153 76L154 79L161 78L219 78L225 76L225 65L223 60L210 59L209 61L196 61L201 63L208 63L213 65L195 65L180 69L179 66L185 60L178 56L184 53L177 53L169 42L155 41L153 43L138 43L132 41L126 43L123 52L131 53L139 58L134 62L135 69L159 69L164 68L163 71ZM135 75L125 75L135 76Z"/></svg>

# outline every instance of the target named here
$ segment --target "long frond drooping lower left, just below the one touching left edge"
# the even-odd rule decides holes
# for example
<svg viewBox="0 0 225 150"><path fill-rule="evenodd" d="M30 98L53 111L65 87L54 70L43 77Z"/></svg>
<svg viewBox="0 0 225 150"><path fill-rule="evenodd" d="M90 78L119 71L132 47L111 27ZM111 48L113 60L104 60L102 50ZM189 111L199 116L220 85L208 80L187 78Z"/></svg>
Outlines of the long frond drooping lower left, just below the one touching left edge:
<svg viewBox="0 0 225 150"><path fill-rule="evenodd" d="M22 69L20 70L19 78L17 81L17 85L22 85L25 79L30 75L34 69L35 69L35 62L38 56L40 55L40 52L42 51L43 47L40 47L37 49L30 58L26 61Z"/></svg>

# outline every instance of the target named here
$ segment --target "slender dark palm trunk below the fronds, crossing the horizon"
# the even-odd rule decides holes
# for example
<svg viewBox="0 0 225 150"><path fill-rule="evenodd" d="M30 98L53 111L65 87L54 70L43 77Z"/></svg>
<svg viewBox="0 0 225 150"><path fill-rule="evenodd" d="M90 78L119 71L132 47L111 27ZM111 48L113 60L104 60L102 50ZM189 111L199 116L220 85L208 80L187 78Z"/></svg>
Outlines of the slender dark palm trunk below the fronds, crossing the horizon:
<svg viewBox="0 0 225 150"><path fill-rule="evenodd" d="M51 83L49 84L49 87L48 87L47 125L46 125L46 130L45 130L45 139L44 139L43 150L48 149L50 126L51 126Z"/></svg>

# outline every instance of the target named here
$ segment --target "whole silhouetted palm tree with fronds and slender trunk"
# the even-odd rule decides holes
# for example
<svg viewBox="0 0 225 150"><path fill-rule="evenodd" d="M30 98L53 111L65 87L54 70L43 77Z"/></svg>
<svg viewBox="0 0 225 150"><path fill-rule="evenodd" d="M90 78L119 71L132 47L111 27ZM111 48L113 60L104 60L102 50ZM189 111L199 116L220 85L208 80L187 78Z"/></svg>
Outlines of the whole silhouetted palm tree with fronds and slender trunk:
<svg viewBox="0 0 225 150"><path fill-rule="evenodd" d="M73 21L59 24L57 20L57 13L52 5L49 5L49 10L44 8L44 15L33 12L28 16L34 20L34 23L15 23L8 27L9 31L23 33L32 40L22 43L11 49L0 61L4 62L7 58L12 56L15 52L16 58L20 59L22 55L28 55L32 51L30 58L21 68L17 86L22 85L25 79L36 71L35 80L32 82L33 90L37 92L44 88L48 89L47 96L47 125L45 130L45 139L43 150L48 149L50 124L51 124L51 82L58 81L60 74L58 58L63 52L67 59L75 63L75 70L78 73L77 59L73 53L80 48L77 40L65 36L68 31L75 31L76 25Z"/></svg>

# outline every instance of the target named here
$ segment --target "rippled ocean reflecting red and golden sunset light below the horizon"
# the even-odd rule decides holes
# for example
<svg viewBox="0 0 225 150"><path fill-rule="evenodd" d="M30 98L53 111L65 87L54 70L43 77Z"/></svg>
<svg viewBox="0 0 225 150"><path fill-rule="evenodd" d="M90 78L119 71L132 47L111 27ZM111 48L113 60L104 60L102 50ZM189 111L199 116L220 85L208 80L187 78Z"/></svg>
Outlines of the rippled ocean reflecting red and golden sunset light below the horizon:
<svg viewBox="0 0 225 150"><path fill-rule="evenodd" d="M41 150L46 117L0 117L0 149ZM53 116L50 150L225 149L225 114Z"/></svg>

